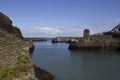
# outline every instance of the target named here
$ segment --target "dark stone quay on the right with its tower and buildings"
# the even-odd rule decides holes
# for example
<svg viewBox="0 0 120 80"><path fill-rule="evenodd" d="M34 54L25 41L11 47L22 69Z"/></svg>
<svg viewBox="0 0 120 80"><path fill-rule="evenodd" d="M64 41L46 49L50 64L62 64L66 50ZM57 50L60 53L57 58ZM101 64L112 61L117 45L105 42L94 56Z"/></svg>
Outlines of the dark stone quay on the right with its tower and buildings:
<svg viewBox="0 0 120 80"><path fill-rule="evenodd" d="M120 49L120 24L113 30L90 35L90 30L83 30L81 41L70 43L69 49L81 50L119 50Z"/></svg>

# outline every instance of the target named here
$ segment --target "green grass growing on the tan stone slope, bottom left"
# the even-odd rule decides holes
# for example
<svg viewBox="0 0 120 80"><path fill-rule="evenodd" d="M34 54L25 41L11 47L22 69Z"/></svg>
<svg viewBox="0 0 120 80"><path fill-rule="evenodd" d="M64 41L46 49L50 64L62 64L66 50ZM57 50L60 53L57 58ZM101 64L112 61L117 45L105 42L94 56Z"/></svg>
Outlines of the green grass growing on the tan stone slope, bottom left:
<svg viewBox="0 0 120 80"><path fill-rule="evenodd" d="M28 62L28 55L23 56L19 54L17 56L17 65L8 66L0 70L0 80L12 80L13 78L20 78L27 75L27 70L29 68Z"/></svg>

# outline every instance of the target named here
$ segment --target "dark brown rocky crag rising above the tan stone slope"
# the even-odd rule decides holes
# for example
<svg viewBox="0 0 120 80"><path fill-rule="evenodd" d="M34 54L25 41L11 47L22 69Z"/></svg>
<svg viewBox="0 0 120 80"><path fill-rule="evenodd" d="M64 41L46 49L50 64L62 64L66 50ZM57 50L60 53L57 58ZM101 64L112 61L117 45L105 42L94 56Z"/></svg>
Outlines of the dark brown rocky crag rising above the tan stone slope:
<svg viewBox="0 0 120 80"><path fill-rule="evenodd" d="M23 39L20 29L17 27L14 27L9 17L7 17L1 12L0 12L0 28Z"/></svg>

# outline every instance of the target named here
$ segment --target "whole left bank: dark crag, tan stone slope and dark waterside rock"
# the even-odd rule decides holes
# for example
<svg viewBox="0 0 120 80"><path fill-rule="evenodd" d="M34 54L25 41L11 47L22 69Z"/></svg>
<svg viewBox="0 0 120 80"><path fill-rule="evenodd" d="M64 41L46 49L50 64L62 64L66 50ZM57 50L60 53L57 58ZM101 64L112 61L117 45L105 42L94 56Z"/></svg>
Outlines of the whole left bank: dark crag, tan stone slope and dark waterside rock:
<svg viewBox="0 0 120 80"><path fill-rule="evenodd" d="M34 67L30 59L32 42L20 38L21 31L0 13L0 80L51 80L51 73Z"/></svg>

